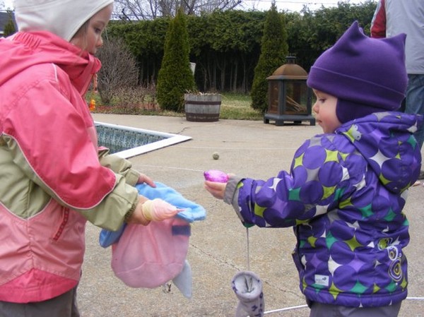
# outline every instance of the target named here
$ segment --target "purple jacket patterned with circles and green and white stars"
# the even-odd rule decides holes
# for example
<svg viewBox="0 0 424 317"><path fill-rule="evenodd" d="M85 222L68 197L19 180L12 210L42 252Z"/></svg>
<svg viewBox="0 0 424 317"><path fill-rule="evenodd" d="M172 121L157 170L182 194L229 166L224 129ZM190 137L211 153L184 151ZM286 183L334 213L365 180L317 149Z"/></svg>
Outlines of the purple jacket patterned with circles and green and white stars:
<svg viewBox="0 0 424 317"><path fill-rule="evenodd" d="M225 201L245 224L293 227L293 259L307 299L386 306L406 298L406 189L420 173L412 133L420 116L379 112L314 136L290 174L232 178Z"/></svg>

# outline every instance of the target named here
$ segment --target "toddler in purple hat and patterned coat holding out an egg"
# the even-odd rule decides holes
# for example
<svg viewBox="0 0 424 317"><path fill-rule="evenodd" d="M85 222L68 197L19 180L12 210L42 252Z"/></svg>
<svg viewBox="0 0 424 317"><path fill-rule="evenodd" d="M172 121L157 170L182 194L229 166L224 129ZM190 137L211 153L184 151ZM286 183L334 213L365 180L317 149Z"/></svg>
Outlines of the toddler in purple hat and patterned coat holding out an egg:
<svg viewBox="0 0 424 317"><path fill-rule="evenodd" d="M420 116L396 112L405 35L372 39L355 22L310 70L323 133L268 180L205 181L245 225L294 227L310 316L397 316L407 295L406 190L420 173Z"/></svg>

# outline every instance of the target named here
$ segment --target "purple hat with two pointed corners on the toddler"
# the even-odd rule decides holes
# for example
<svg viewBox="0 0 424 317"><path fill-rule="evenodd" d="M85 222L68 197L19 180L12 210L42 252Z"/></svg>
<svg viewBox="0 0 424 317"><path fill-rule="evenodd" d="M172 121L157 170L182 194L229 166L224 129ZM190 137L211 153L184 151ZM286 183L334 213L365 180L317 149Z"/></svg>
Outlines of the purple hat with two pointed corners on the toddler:
<svg viewBox="0 0 424 317"><path fill-rule="evenodd" d="M405 97L405 34L367 37L355 21L333 47L318 57L307 85L338 98L341 123L373 112L395 111Z"/></svg>

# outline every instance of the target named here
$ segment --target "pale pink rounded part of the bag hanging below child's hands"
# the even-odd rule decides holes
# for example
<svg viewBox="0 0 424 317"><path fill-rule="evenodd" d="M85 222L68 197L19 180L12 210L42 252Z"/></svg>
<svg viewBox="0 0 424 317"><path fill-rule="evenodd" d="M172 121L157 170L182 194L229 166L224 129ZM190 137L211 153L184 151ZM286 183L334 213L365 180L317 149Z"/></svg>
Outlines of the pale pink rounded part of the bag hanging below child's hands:
<svg viewBox="0 0 424 317"><path fill-rule="evenodd" d="M189 249L190 225L173 217L147 226L127 225L112 244L112 270L129 287L154 288L181 273Z"/></svg>

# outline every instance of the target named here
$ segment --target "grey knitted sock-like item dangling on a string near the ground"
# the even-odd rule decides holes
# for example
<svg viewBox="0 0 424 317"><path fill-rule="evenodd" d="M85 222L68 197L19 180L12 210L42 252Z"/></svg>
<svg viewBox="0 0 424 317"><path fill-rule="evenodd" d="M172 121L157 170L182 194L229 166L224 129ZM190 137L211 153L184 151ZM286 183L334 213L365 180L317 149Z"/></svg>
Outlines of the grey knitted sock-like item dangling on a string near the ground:
<svg viewBox="0 0 424 317"><path fill-rule="evenodd" d="M265 301L259 277L250 271L240 271L234 275L231 284L239 299L235 317L263 317Z"/></svg>

